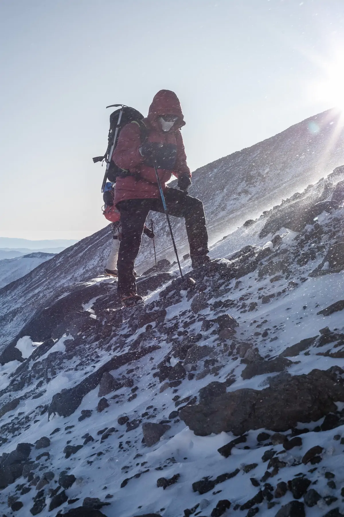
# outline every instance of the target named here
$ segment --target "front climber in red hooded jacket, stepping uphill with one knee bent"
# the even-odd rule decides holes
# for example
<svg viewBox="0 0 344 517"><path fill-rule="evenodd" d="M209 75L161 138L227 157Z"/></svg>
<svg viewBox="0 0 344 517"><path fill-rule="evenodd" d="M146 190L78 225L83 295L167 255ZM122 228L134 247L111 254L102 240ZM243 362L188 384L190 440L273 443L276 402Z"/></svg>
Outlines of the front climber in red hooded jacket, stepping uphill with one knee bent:
<svg viewBox="0 0 344 517"><path fill-rule="evenodd" d="M191 172L186 163L181 134L185 125L184 115L175 93L160 90L143 123L147 129L144 142L141 141L140 126L135 122L129 123L121 130L112 155L116 165L128 171L124 177L117 178L114 194L114 204L121 212L122 223L117 263L118 292L125 306L142 302L136 293L133 270L146 217L150 210L163 213L154 162L169 215L185 218L192 267L199 267L210 260L203 203L187 193ZM166 185L172 174L178 178L179 190Z"/></svg>

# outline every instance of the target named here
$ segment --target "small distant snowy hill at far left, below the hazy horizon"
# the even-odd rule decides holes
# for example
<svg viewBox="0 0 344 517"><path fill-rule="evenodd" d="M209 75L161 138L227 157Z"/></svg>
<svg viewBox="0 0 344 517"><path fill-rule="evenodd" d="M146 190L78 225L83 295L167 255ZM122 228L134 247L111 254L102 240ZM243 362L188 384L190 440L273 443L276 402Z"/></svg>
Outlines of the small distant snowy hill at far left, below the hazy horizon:
<svg viewBox="0 0 344 517"><path fill-rule="evenodd" d="M54 256L54 253L42 253L36 251L17 258L4 258L0 260L0 288L24 277L43 262Z"/></svg>

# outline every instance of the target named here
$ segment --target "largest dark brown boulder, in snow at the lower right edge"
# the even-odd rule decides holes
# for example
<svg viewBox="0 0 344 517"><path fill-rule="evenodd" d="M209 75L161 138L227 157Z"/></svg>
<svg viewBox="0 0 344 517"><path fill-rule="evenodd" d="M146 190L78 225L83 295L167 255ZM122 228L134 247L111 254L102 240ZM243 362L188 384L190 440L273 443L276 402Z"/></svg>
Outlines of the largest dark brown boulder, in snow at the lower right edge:
<svg viewBox="0 0 344 517"><path fill-rule="evenodd" d="M268 388L224 393L209 403L184 407L179 416L200 436L222 431L242 435L262 427L287 431L298 422L317 421L337 410L335 402L344 402L343 373L332 367L307 375L284 374Z"/></svg>

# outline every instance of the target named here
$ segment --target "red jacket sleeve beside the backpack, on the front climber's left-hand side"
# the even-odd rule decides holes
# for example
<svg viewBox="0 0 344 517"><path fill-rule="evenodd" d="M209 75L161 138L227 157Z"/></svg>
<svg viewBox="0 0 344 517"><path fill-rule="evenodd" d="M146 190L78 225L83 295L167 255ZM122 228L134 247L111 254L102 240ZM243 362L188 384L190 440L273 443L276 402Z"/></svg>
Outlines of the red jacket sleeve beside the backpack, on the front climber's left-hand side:
<svg viewBox="0 0 344 517"><path fill-rule="evenodd" d="M112 154L112 160L121 169L133 169L144 158L140 155L141 132L137 124L127 124L120 132L116 149Z"/></svg>

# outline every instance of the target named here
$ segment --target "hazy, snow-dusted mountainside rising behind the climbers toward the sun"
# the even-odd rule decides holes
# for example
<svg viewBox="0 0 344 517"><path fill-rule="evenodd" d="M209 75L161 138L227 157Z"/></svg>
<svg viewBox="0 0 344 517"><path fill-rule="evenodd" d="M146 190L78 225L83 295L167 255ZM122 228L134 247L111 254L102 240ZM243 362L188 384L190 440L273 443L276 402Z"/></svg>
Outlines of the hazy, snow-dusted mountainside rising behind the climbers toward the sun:
<svg viewBox="0 0 344 517"><path fill-rule="evenodd" d="M210 243L341 165L343 136L340 116L330 110L196 170L190 194L204 202ZM165 216L152 217L157 256L174 261ZM182 256L189 251L184 223L171 220ZM70 284L99 275L110 246L106 227L0 290L0 351L48 298L63 293ZM142 272L153 264L152 241L143 236L137 270Z"/></svg>

